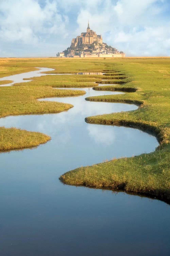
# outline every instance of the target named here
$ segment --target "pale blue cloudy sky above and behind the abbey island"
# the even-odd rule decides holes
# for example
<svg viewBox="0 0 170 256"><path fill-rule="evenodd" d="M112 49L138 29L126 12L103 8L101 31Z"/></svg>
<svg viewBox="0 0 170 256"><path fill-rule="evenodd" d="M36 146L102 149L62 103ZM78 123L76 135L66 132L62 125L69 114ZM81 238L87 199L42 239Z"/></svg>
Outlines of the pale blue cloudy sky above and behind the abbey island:
<svg viewBox="0 0 170 256"><path fill-rule="evenodd" d="M126 56L170 56L170 0L0 0L0 57L54 57L85 32Z"/></svg>

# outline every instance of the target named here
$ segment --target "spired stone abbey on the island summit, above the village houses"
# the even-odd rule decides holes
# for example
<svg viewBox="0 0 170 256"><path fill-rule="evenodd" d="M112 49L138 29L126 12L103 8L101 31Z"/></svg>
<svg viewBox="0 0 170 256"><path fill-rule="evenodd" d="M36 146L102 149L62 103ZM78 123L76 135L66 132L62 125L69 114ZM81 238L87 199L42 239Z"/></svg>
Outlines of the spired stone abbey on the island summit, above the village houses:
<svg viewBox="0 0 170 256"><path fill-rule="evenodd" d="M79 46L80 44L102 44L102 36L97 35L95 31L90 29L89 22L86 32L82 32L77 38L73 38L71 41L71 46Z"/></svg>

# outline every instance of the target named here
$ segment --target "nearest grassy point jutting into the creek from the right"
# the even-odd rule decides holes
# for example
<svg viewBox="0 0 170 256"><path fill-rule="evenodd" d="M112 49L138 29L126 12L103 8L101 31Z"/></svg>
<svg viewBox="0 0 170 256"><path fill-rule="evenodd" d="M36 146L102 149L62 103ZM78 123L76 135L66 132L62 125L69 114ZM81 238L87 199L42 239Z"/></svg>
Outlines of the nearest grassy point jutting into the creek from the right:
<svg viewBox="0 0 170 256"><path fill-rule="evenodd" d="M170 146L137 157L113 159L67 172L61 180L69 185L125 190L170 201Z"/></svg>

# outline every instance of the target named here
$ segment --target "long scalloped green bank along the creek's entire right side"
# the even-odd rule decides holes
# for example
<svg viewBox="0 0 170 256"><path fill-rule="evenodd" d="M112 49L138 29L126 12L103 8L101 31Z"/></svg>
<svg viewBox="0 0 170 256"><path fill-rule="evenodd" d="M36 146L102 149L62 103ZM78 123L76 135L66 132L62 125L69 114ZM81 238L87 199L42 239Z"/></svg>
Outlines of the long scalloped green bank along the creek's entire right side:
<svg viewBox="0 0 170 256"><path fill-rule="evenodd" d="M107 64L107 76L125 74L126 80L116 85L95 87L96 90L122 90L130 93L88 97L86 100L134 103L135 111L87 117L92 124L121 125L152 132L160 142L150 154L113 159L81 167L63 174L65 184L98 188L123 189L170 202L170 59L124 59ZM119 79L120 80L120 79ZM112 80L113 81L113 80ZM117 80L118 81L118 80ZM110 81L109 81L110 82ZM108 81L101 81L108 83Z"/></svg>

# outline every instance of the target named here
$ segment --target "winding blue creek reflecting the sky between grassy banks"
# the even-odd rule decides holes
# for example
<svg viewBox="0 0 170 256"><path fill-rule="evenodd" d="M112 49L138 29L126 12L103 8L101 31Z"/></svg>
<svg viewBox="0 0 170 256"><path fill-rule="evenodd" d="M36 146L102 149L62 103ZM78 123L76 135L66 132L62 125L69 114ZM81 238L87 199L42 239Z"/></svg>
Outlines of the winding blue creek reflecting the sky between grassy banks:
<svg viewBox="0 0 170 256"><path fill-rule="evenodd" d="M168 256L168 204L58 180L77 167L149 153L158 146L154 136L138 129L85 123L87 116L137 106L86 101L120 92L81 90L86 94L42 99L73 104L66 112L0 119L0 126L52 137L32 149L0 153L0 255Z"/></svg>

